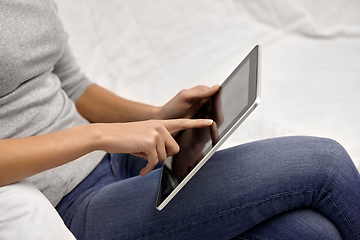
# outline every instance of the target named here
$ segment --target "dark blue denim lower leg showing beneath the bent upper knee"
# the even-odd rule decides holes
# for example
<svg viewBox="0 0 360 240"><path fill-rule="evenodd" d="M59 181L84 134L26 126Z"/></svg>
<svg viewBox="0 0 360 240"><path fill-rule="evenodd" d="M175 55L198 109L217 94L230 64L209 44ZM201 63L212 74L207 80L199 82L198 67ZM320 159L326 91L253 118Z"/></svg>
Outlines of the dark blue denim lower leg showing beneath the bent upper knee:
<svg viewBox="0 0 360 240"><path fill-rule="evenodd" d="M342 240L337 227L313 208L280 213L233 238L251 240L318 239Z"/></svg>

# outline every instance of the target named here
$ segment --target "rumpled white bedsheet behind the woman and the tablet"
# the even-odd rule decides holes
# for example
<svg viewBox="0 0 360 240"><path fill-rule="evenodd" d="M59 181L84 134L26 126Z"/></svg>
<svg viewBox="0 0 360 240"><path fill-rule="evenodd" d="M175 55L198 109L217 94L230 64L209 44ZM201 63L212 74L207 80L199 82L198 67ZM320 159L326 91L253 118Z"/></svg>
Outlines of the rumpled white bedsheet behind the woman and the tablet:
<svg viewBox="0 0 360 240"><path fill-rule="evenodd" d="M91 80L161 105L263 47L262 100L224 147L314 135L360 167L360 1L56 0Z"/></svg>

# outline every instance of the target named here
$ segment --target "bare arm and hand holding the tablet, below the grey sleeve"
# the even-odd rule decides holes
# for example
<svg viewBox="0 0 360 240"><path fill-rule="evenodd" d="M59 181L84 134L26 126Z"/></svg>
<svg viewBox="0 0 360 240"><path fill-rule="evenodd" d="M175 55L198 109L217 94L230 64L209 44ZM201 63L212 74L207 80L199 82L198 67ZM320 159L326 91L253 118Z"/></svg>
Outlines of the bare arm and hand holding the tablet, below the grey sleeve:
<svg viewBox="0 0 360 240"><path fill-rule="evenodd" d="M191 118L219 86L196 86L180 91L162 107L133 102L96 85L77 100L79 113L90 122L134 122L148 119Z"/></svg>

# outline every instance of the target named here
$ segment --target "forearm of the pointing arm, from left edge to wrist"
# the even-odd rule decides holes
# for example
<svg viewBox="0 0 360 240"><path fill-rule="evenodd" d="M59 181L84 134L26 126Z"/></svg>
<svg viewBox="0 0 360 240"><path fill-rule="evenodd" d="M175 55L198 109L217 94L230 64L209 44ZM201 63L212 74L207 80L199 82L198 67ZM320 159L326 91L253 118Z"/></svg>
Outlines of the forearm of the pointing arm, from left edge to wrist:
<svg viewBox="0 0 360 240"><path fill-rule="evenodd" d="M63 165L97 149L96 126L0 140L0 186Z"/></svg>

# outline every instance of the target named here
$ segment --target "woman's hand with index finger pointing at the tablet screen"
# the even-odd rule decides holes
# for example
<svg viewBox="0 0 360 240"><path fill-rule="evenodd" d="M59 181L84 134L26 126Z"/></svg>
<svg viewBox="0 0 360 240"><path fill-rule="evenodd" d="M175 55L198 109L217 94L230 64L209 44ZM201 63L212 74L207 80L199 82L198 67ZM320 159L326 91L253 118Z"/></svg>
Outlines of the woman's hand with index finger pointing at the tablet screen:
<svg viewBox="0 0 360 240"><path fill-rule="evenodd" d="M204 119L149 120L119 124L97 124L100 130L99 149L109 153L131 153L148 160L140 175L149 173L159 161L179 152L172 133L187 128L212 124Z"/></svg>

